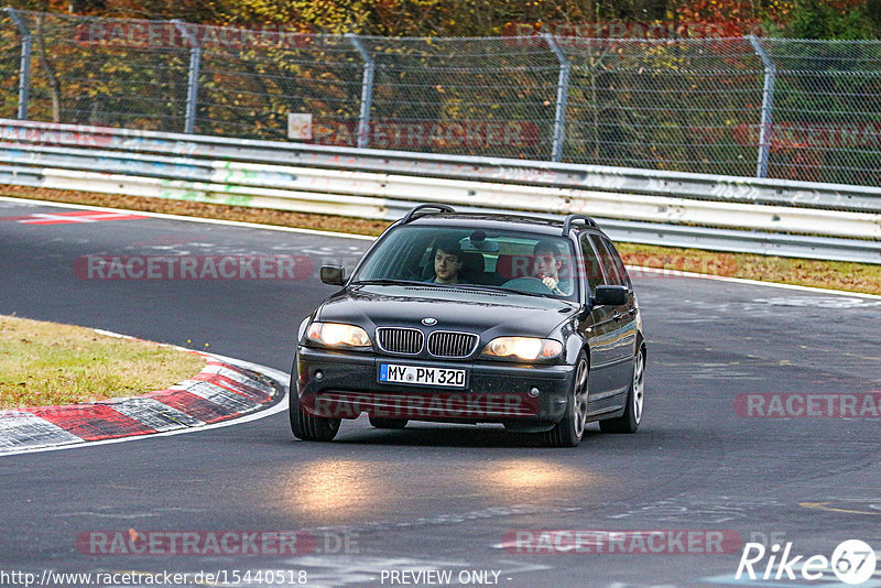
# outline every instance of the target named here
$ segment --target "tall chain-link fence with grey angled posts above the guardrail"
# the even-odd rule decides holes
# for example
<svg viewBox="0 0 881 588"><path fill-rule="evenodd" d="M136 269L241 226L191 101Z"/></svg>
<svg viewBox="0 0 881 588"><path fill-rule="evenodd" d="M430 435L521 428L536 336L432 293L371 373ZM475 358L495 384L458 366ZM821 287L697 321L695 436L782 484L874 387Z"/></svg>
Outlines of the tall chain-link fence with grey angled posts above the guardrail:
<svg viewBox="0 0 881 588"><path fill-rule="evenodd" d="M290 140L300 113L319 144L881 185L881 41L0 20L9 118Z"/></svg>

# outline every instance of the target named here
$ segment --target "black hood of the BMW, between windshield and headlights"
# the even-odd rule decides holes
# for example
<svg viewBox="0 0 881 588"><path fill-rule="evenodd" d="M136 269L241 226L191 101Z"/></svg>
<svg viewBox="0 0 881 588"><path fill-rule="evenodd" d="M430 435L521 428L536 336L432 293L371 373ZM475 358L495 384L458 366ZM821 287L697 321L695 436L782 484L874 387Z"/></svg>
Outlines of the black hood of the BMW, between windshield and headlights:
<svg viewBox="0 0 881 588"><path fill-rule="evenodd" d="M376 327L463 330L491 337L546 337L577 313L577 305L554 298L468 288L403 285L349 286L318 308L316 319ZM423 318L435 318L425 327Z"/></svg>

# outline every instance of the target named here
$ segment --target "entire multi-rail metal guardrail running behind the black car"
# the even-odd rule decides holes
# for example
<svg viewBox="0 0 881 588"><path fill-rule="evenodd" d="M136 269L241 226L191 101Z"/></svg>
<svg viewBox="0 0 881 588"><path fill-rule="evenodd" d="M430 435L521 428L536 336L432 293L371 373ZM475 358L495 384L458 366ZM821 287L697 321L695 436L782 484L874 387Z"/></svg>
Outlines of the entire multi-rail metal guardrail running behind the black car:
<svg viewBox="0 0 881 588"><path fill-rule="evenodd" d="M881 263L875 187L13 120L0 134L10 184L387 220L425 200L577 211L619 240Z"/></svg>

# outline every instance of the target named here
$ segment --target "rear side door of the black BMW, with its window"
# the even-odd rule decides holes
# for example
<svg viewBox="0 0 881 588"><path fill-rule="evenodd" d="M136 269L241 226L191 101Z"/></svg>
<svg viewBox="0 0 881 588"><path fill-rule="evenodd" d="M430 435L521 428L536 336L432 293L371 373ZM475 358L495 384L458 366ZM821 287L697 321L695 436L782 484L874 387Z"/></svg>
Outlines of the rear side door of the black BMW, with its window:
<svg viewBox="0 0 881 588"><path fill-rule="evenodd" d="M614 394L623 405L626 395L630 389L633 378L633 361L637 353L637 300L633 294L633 285L627 274L627 268L621 261L621 257L614 249L612 242L605 236L592 235L591 240L598 250L600 262L602 263L606 283L627 287L627 301L624 304L616 306L612 311L614 329L613 337L609 345L613 348L613 367L610 368L614 383L612 388Z"/></svg>

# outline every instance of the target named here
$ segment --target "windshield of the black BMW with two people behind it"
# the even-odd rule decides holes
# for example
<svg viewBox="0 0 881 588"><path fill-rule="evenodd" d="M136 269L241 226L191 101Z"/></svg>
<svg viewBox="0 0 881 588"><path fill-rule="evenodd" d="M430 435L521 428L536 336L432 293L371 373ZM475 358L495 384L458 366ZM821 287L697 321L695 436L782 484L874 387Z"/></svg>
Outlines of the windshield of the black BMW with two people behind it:
<svg viewBox="0 0 881 588"><path fill-rule="evenodd" d="M352 282L431 283L575 301L579 272L568 239L514 230L392 229Z"/></svg>

